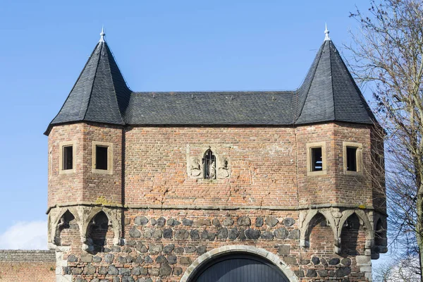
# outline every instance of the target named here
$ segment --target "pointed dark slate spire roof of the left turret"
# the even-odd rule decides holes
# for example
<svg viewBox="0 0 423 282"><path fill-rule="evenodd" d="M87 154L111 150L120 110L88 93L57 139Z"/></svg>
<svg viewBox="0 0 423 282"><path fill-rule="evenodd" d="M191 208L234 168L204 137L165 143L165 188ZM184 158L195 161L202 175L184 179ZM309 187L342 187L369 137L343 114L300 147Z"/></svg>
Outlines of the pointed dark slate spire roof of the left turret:
<svg viewBox="0 0 423 282"><path fill-rule="evenodd" d="M124 125L130 93L109 46L100 40L51 126L78 121Z"/></svg>

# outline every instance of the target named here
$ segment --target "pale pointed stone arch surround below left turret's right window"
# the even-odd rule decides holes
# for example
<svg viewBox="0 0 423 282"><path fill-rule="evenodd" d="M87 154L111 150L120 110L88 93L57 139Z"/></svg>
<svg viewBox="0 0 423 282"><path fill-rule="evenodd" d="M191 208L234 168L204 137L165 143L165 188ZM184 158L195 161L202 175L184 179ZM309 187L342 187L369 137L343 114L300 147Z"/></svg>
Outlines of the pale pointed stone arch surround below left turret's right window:
<svg viewBox="0 0 423 282"><path fill-rule="evenodd" d="M104 209L102 207L94 207L90 209L90 213L85 217L82 225L83 225L83 235L82 235L82 249L86 250L87 252L94 252L94 246L92 245L92 240L90 239L90 224L92 223L95 216L98 214L104 214L108 221L108 226L111 226L111 231L113 232L113 244L120 245L121 244L121 224L119 223L116 216L114 216L108 209Z"/></svg>

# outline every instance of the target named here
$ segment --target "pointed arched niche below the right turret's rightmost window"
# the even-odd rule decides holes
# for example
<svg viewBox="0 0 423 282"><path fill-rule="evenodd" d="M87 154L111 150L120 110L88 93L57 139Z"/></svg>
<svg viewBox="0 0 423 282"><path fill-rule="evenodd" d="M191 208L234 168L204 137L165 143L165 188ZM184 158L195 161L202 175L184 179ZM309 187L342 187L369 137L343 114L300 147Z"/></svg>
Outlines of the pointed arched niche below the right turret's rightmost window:
<svg viewBox="0 0 423 282"><path fill-rule="evenodd" d="M374 241L373 228L366 214L360 210L343 212L338 238L343 255L366 255Z"/></svg>

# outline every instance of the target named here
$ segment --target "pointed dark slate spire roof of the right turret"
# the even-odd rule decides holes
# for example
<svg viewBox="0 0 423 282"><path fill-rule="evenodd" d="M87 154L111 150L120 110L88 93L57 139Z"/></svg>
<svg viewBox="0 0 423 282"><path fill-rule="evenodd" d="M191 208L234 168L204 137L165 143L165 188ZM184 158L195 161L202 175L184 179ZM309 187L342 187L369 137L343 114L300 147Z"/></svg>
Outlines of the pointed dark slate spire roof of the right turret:
<svg viewBox="0 0 423 282"><path fill-rule="evenodd" d="M324 121L374 123L360 89L325 30L325 39L298 90L295 124Z"/></svg>

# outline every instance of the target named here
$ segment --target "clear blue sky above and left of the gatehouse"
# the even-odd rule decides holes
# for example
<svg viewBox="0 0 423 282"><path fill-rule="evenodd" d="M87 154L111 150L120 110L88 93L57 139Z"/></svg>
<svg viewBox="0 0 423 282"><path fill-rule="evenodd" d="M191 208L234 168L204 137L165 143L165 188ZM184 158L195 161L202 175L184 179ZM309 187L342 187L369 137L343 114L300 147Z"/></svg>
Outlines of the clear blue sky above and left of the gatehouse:
<svg viewBox="0 0 423 282"><path fill-rule="evenodd" d="M355 5L367 9L368 2L2 2L0 238L23 223L44 228L47 137L42 133L97 44L102 25L133 90L292 90L323 42L325 22L348 58L342 44L350 42L348 29L356 28L349 12Z"/></svg>

